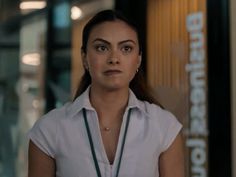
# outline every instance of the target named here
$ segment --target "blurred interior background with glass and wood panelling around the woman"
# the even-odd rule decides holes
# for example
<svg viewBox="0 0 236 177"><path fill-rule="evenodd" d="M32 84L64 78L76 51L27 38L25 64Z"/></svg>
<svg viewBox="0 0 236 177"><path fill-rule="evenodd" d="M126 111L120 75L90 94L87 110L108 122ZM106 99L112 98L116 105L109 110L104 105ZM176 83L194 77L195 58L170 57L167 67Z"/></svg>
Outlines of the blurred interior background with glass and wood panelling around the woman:
<svg viewBox="0 0 236 177"><path fill-rule="evenodd" d="M0 0L0 177L27 176L27 131L75 94L81 30L140 26L146 82L183 123L187 177L236 177L235 0Z"/></svg>

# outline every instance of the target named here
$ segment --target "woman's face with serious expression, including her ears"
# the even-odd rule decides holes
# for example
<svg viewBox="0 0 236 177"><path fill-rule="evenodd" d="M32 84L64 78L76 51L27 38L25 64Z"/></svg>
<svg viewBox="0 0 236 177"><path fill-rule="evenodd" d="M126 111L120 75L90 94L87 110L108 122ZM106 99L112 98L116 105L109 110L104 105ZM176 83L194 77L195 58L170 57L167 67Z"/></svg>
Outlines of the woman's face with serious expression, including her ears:
<svg viewBox="0 0 236 177"><path fill-rule="evenodd" d="M82 58L93 87L128 88L141 63L137 33L120 20L103 22L92 29Z"/></svg>

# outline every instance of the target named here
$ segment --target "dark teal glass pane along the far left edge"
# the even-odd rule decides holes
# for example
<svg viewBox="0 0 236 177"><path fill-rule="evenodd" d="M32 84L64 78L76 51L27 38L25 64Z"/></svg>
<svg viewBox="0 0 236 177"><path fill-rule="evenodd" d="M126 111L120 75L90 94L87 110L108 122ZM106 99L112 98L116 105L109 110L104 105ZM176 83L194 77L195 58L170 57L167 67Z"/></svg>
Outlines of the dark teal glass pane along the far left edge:
<svg viewBox="0 0 236 177"><path fill-rule="evenodd" d="M19 122L18 31L1 31L0 36L0 176L15 177Z"/></svg>

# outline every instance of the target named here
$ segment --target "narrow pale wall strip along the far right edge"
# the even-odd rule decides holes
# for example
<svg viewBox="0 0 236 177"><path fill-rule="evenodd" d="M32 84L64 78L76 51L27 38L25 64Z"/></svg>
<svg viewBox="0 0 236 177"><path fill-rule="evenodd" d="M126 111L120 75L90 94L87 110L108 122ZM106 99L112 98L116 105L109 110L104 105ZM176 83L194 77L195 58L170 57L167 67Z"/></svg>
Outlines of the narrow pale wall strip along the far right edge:
<svg viewBox="0 0 236 177"><path fill-rule="evenodd" d="M231 109L232 109L232 174L236 177L236 1L230 2L231 18Z"/></svg>

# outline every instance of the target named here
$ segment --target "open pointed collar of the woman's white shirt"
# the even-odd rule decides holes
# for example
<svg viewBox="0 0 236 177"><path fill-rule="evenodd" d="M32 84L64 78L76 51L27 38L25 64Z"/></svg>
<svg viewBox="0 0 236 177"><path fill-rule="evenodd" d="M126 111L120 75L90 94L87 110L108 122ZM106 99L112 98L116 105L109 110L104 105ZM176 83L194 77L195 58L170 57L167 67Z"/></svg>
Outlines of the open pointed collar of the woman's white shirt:
<svg viewBox="0 0 236 177"><path fill-rule="evenodd" d="M89 100L89 91L90 86L88 86L88 88L71 103L68 110L69 115L74 116L83 108L87 110L95 110ZM143 103L143 101L138 100L138 98L135 96L131 89L129 89L129 102L127 109L130 108L138 109L142 113L147 114L145 104Z"/></svg>

